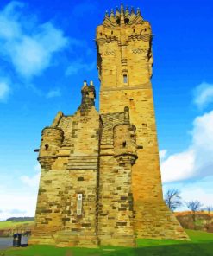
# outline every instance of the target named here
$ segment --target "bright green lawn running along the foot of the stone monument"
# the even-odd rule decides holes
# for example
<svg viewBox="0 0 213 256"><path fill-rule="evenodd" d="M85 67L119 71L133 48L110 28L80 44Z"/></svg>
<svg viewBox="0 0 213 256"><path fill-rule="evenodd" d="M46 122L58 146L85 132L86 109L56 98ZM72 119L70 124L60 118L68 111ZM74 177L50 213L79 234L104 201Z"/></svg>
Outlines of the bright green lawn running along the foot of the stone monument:
<svg viewBox="0 0 213 256"><path fill-rule="evenodd" d="M212 256L213 234L186 230L191 241L137 240L136 248L100 247L58 248L55 246L28 246L0 251L0 256ZM2 253L2 254L1 254Z"/></svg>

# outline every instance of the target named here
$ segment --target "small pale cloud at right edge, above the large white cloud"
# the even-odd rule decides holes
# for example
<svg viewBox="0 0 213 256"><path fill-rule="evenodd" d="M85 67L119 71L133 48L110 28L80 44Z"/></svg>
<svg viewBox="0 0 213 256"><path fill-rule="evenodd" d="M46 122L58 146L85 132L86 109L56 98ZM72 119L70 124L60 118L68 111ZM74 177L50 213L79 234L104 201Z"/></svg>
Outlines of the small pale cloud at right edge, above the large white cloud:
<svg viewBox="0 0 213 256"><path fill-rule="evenodd" d="M213 102L213 84L203 82L194 90L194 103L204 108Z"/></svg>

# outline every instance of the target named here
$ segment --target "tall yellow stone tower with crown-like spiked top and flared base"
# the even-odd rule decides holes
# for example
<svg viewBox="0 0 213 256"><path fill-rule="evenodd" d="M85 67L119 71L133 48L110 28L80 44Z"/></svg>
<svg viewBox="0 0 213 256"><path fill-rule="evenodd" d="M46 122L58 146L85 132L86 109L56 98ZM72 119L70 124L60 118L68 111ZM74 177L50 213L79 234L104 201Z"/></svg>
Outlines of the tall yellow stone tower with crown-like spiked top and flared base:
<svg viewBox="0 0 213 256"><path fill-rule="evenodd" d="M125 20L127 18L127 20ZM128 22L129 21L129 22ZM118 16L105 16L103 25L97 27L97 67L100 89L100 112L122 112L129 107L130 121L136 126L138 159L132 170L132 189L135 210L135 233L146 237L160 234L161 238L187 237L175 218L164 216L170 213L162 197L159 149L153 107L152 77L152 31L140 12L129 16L121 11ZM109 100L110 99L110 100ZM147 202L153 207L149 208ZM159 202L159 204L158 204ZM144 218L143 212L147 217ZM161 216L159 226L153 215ZM172 220L172 221L171 221ZM152 226L153 223L153 226ZM179 232L165 231L165 228ZM161 233L160 233L161 230ZM169 234L169 235L168 235Z"/></svg>

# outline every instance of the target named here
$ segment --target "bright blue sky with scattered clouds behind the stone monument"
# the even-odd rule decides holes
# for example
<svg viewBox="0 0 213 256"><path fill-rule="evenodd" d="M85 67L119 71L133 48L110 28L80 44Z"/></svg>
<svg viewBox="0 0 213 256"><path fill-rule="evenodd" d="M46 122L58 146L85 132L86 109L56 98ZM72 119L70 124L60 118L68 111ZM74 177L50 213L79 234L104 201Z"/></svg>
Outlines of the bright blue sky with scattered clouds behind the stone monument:
<svg viewBox="0 0 213 256"><path fill-rule="evenodd" d="M213 205L213 3L125 1L153 29L153 95L164 189ZM118 1L0 2L0 219L34 215L41 129L99 91L95 29ZM98 93L97 93L98 95ZM98 108L98 97L97 97Z"/></svg>

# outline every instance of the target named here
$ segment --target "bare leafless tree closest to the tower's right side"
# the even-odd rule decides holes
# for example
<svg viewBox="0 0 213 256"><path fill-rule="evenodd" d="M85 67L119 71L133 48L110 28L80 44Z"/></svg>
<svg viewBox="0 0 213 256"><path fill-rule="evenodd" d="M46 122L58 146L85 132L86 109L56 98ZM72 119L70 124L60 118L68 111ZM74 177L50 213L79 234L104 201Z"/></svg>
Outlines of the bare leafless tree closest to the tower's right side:
<svg viewBox="0 0 213 256"><path fill-rule="evenodd" d="M182 205L181 196L179 195L179 189L168 189L165 195L166 205L172 210L172 212Z"/></svg>

